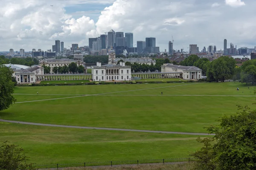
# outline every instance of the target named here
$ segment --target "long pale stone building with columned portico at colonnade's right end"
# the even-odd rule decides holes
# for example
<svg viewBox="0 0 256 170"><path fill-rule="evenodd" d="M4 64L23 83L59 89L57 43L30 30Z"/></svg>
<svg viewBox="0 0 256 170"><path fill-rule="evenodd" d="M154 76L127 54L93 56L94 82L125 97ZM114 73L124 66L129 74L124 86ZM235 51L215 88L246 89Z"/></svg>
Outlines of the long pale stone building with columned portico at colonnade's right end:
<svg viewBox="0 0 256 170"><path fill-rule="evenodd" d="M202 70L195 66L182 66L182 65L173 65L173 64L163 64L161 66L162 73L173 73L177 72L179 74L177 77L182 79L201 79Z"/></svg>

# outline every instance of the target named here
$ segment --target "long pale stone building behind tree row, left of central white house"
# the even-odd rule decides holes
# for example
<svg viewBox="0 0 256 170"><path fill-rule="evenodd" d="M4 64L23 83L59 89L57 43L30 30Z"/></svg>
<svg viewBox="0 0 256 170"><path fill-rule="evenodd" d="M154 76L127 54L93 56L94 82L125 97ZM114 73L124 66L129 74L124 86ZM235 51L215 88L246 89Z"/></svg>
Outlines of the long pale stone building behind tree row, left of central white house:
<svg viewBox="0 0 256 170"><path fill-rule="evenodd" d="M46 59L39 62L40 65L50 66L51 71L50 74L53 74L52 68L54 67L63 67L64 65L70 65L71 62L75 62L77 66L83 65L84 66L84 73L87 73L87 68L84 65L82 54L75 54L74 57L77 57L76 59Z"/></svg>

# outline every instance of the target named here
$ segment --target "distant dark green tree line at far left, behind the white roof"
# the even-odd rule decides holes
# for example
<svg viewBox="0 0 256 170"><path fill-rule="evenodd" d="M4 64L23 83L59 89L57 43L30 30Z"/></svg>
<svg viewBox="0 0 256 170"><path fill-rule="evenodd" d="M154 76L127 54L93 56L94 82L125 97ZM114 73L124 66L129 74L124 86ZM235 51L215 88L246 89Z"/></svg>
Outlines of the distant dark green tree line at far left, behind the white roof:
<svg viewBox="0 0 256 170"><path fill-rule="evenodd" d="M38 65L39 60L37 58L32 58L32 57L23 57L23 58L5 58L3 55L0 56L0 63L3 64L19 64L19 65L26 65L31 67L31 65Z"/></svg>

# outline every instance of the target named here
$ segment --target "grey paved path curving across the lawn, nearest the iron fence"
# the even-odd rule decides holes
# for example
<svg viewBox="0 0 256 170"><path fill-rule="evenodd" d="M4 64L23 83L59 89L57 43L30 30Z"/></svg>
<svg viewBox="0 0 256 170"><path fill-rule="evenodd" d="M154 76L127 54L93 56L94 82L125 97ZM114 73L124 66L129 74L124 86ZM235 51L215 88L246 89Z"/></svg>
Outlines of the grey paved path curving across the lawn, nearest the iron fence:
<svg viewBox="0 0 256 170"><path fill-rule="evenodd" d="M167 131L156 131L156 130L116 129L116 128L107 128L107 127L84 127L84 126L52 125L52 124L20 122L20 121L4 120L4 119L0 119L0 122L19 123L19 124L24 124L24 125L50 126L50 127L67 127L67 128L77 128L77 129L116 130L116 131L146 132L146 133L168 133L168 134L196 135L196 136L198 136L198 135L207 135L207 136L208 135L210 135L210 136L215 135L215 134L208 134L208 133L167 132Z"/></svg>

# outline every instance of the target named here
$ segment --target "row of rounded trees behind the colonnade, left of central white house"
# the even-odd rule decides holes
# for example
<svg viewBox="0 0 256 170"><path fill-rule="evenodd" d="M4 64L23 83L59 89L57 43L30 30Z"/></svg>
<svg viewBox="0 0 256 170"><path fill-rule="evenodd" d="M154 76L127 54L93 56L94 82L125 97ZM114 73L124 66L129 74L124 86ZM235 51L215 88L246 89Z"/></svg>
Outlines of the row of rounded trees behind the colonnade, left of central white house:
<svg viewBox="0 0 256 170"><path fill-rule="evenodd" d="M64 65L64 66L55 66L52 68L50 66L44 65L44 74L50 74L52 71L55 74L67 74L67 73L73 73L73 74L83 74L84 73L84 66L79 65L77 66L75 62L71 62L70 65Z"/></svg>

